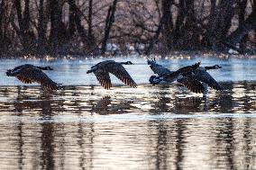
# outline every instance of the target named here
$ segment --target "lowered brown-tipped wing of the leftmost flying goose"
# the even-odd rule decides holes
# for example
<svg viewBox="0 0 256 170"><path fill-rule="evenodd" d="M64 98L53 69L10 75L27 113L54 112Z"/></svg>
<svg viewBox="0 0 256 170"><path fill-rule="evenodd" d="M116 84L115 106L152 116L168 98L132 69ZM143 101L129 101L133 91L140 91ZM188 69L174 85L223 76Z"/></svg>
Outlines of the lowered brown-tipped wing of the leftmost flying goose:
<svg viewBox="0 0 256 170"><path fill-rule="evenodd" d="M16 77L26 84L31 84L32 82L36 82L41 84L43 87L45 87L48 90L59 89L59 85L53 82L49 76L47 76L41 71L41 69L36 69L36 68L22 69Z"/></svg>

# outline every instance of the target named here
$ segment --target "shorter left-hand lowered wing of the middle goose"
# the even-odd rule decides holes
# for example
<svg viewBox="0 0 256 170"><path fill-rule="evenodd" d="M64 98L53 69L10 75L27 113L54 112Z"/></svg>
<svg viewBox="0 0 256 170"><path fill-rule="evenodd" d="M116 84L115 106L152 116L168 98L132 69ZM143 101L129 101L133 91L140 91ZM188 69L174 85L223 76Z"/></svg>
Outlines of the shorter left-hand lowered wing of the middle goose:
<svg viewBox="0 0 256 170"><path fill-rule="evenodd" d="M100 85L102 85L105 89L110 89L112 86L111 79L109 77L108 72L103 69L97 69L95 72L96 79L99 81Z"/></svg>

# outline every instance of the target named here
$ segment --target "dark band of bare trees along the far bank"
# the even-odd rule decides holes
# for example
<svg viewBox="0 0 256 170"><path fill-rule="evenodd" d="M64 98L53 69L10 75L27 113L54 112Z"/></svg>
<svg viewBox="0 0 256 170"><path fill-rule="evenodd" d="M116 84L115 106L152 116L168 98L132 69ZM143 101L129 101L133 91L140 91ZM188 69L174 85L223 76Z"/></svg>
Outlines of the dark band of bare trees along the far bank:
<svg viewBox="0 0 256 170"><path fill-rule="evenodd" d="M256 0L0 0L1 55L244 53L255 32Z"/></svg>

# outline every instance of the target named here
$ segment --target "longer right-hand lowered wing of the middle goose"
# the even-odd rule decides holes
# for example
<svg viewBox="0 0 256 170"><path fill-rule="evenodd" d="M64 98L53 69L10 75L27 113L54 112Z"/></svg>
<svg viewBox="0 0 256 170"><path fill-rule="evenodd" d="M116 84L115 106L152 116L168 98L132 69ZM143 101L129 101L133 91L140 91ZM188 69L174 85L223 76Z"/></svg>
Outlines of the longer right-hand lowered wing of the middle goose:
<svg viewBox="0 0 256 170"><path fill-rule="evenodd" d="M125 85L130 85L133 88L136 88L137 85L133 81L133 78L125 70L125 68L120 63L109 63L105 66L105 71L112 73L118 79L120 79Z"/></svg>

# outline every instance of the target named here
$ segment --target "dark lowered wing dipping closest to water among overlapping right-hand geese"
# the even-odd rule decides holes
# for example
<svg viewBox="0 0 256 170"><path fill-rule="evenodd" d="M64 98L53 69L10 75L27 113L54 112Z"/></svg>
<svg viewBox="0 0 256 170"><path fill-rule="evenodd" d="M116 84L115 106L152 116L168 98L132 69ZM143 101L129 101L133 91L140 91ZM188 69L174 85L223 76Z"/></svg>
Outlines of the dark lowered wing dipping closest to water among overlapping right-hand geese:
<svg viewBox="0 0 256 170"><path fill-rule="evenodd" d="M200 94L203 93L206 89L197 79L191 78L189 76L184 76L177 80L178 83L187 87L191 92Z"/></svg>

